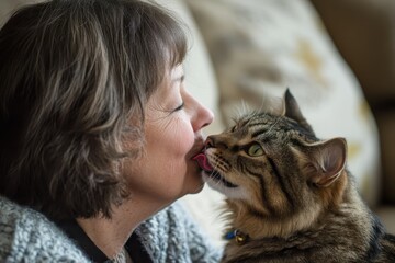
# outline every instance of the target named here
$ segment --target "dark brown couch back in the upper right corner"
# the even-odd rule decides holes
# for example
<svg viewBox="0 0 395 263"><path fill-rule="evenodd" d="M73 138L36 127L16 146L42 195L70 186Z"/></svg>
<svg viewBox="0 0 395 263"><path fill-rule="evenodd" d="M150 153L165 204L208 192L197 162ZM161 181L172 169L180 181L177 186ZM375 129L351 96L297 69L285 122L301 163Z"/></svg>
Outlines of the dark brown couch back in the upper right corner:
<svg viewBox="0 0 395 263"><path fill-rule="evenodd" d="M395 1L311 0L375 105L395 101Z"/></svg>

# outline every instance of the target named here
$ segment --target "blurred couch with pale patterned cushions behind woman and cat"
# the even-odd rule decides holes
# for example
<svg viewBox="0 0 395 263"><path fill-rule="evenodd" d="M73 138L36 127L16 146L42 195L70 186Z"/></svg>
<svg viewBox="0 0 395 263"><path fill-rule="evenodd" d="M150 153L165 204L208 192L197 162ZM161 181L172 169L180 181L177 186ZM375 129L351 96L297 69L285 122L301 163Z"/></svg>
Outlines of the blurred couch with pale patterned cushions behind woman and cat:
<svg viewBox="0 0 395 263"><path fill-rule="evenodd" d="M2 0L0 22L29 2ZM290 88L319 137L346 137L348 167L362 197L395 233L395 32L386 10L394 8L392 0L157 2L187 25L185 82L216 116L206 134L223 130L240 108L270 106ZM372 26L357 31L362 24ZM371 35L374 48L361 45ZM218 244L223 199L205 187L181 201Z"/></svg>

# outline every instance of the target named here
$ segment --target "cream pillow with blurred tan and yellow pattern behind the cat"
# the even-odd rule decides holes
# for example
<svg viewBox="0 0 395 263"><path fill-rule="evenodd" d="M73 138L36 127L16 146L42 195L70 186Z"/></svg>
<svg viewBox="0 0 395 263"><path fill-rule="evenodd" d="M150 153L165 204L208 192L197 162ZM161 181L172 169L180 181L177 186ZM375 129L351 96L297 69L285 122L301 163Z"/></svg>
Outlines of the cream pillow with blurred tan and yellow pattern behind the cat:
<svg viewBox="0 0 395 263"><path fill-rule="evenodd" d="M348 164L371 205L379 138L370 107L306 0L187 0L204 36L224 121L241 104L268 106L286 88L320 138L346 137Z"/></svg>

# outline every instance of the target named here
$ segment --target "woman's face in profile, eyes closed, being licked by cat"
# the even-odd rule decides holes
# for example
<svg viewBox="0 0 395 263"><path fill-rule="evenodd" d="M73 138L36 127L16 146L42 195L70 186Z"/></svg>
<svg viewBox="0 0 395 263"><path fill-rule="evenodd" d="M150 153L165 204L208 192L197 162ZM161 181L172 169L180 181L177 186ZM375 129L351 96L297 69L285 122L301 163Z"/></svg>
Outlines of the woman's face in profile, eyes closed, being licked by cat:
<svg viewBox="0 0 395 263"><path fill-rule="evenodd" d="M201 169L191 158L202 148L202 128L213 113L187 90L182 66L165 77L146 105L144 156L124 163L133 196L168 204L202 190Z"/></svg>

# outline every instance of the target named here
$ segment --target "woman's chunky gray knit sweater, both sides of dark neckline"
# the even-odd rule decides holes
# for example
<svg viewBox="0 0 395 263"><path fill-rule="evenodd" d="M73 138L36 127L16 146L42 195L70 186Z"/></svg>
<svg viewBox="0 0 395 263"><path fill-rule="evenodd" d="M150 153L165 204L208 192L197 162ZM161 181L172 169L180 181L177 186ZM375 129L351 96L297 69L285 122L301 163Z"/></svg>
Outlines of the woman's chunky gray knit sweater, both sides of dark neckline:
<svg viewBox="0 0 395 263"><path fill-rule="evenodd" d="M154 262L218 262L221 250L173 204L137 229ZM0 262L89 262L83 252L42 214L0 196Z"/></svg>

